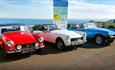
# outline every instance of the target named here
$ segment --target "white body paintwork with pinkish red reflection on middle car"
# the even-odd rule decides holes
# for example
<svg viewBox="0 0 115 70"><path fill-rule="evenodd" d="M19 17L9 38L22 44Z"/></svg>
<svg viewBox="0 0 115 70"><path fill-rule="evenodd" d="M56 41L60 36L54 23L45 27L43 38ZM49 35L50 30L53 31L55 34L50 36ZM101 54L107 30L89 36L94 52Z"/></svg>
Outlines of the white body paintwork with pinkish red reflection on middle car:
<svg viewBox="0 0 115 70"><path fill-rule="evenodd" d="M70 46L70 45L75 45L72 44L71 39L72 38L81 38L83 37L82 35L86 34L86 33L77 33L74 31L69 31L67 29L62 29L62 30L51 30L51 31L39 31L36 30L34 31L34 33L37 34L41 34L45 41L51 42L51 43L56 43L56 39L57 38L61 38L65 44L65 46ZM75 41L75 43L78 43L79 41ZM86 42L86 36L83 37L83 40L80 41L80 44L83 44L84 42ZM79 44L77 44L79 45Z"/></svg>

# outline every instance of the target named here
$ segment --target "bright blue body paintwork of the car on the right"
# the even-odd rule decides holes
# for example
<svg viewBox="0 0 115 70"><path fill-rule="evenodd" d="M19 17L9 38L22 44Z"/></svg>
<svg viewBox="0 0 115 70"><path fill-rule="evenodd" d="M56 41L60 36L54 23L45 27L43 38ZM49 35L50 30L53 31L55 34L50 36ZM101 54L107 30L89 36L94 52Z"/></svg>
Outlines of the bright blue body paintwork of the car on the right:
<svg viewBox="0 0 115 70"><path fill-rule="evenodd" d="M109 34L115 35L115 32L109 29L105 28L99 28L99 27L91 27L91 28L68 28L68 30L72 31L83 31L87 33L88 39L94 39L96 34L101 34L104 37L108 37Z"/></svg>

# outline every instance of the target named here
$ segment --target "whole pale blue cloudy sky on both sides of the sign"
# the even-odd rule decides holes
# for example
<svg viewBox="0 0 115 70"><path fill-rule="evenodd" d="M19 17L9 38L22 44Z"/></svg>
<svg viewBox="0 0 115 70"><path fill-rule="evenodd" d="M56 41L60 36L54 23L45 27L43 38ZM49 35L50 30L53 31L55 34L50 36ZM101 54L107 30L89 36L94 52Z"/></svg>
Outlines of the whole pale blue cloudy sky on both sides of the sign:
<svg viewBox="0 0 115 70"><path fill-rule="evenodd" d="M0 18L53 19L53 0L0 0ZM114 19L115 0L69 0L69 19Z"/></svg>

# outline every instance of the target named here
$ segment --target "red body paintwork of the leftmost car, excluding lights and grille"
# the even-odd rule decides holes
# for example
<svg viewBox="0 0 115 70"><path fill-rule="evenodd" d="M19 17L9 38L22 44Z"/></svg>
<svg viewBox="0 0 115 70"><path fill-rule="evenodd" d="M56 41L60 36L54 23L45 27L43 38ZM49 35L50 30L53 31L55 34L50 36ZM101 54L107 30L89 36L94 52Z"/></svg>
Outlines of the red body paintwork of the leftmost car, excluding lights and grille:
<svg viewBox="0 0 115 70"><path fill-rule="evenodd" d="M3 42L4 44L3 45L0 43L0 45L3 45L2 47L4 47L4 50L6 51L16 50L15 47L16 45L19 44L29 44L29 43L38 42L40 45L44 45L43 42L38 41L38 38L40 38L40 36L32 34L30 32L21 32L21 31L6 32L2 34L2 36L5 37L6 42L10 40L14 42L14 45L12 47L8 47L6 42L3 41L2 38L0 37L0 42Z"/></svg>

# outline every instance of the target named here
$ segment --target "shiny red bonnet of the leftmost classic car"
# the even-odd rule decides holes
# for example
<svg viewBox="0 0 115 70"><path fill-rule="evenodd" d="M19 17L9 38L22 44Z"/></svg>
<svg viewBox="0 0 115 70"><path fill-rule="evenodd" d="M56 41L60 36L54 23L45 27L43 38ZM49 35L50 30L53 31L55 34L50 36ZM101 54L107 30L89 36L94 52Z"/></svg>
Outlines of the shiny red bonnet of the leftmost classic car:
<svg viewBox="0 0 115 70"><path fill-rule="evenodd" d="M14 41L15 44L26 44L36 42L35 37L29 32L7 32L3 35L7 39Z"/></svg>

